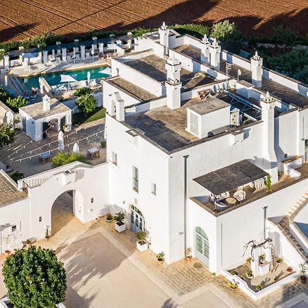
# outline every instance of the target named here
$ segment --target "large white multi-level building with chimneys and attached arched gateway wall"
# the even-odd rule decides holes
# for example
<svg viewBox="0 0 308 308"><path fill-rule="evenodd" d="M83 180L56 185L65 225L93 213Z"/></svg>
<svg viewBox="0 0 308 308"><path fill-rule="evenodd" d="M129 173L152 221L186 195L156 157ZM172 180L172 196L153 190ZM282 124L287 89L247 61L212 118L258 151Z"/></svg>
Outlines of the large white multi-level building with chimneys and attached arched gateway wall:
<svg viewBox="0 0 308 308"><path fill-rule="evenodd" d="M33 177L19 181L20 189L33 185L30 234L44 234L51 201L70 189L84 195L82 215L75 209L81 221L124 211L127 228L146 229L151 249L168 263L192 248L220 272L243 264L245 243L271 238L274 253L297 268L308 253L292 215L308 196L307 91L262 67L257 54L248 61L216 40L180 36L166 25L145 34L135 52L112 59L112 77L103 84L107 163L44 172L39 185ZM66 181L79 168L82 179ZM261 190L267 175L272 192ZM94 176L96 185L82 185ZM52 190L45 214L38 207L43 188ZM0 215L0 224L7 220Z"/></svg>

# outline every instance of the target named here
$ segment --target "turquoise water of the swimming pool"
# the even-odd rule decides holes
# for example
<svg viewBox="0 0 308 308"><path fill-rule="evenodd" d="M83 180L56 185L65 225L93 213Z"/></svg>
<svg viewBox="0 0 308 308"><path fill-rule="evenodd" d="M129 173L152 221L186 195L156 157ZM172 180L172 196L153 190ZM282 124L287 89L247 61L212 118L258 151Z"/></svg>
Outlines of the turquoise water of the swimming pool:
<svg viewBox="0 0 308 308"><path fill-rule="evenodd" d="M62 72L47 73L47 74L37 75L34 77L21 77L19 78L19 80L22 82L22 84L25 86L26 89L40 88L40 84L38 83L38 77L40 76L46 79L49 86L56 86L60 84L61 81L60 75L70 75L77 81L88 80L88 72L90 72L91 74L90 79L109 77L109 75L107 74L99 73L106 67L107 66L97 66L92 68L90 67L84 68L81 70L68 70Z"/></svg>

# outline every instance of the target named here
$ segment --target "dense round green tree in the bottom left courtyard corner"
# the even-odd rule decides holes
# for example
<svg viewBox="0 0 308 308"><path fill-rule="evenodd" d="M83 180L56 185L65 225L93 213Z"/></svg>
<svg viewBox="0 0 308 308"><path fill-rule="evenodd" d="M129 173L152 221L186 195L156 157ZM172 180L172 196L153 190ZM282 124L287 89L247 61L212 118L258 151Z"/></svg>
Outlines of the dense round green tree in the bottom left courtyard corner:
<svg viewBox="0 0 308 308"><path fill-rule="evenodd" d="M14 307L54 308L65 300L66 272L51 249L18 249L5 259L2 273Z"/></svg>

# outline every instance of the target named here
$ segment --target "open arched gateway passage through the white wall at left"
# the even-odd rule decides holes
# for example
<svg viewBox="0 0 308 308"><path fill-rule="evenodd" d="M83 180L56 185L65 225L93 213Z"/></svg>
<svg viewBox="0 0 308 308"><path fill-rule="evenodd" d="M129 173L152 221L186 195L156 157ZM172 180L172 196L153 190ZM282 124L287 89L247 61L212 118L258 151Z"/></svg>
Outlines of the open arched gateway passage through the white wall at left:
<svg viewBox="0 0 308 308"><path fill-rule="evenodd" d="M51 235L65 227L81 211L83 197L76 190L68 190L58 196L51 207Z"/></svg>

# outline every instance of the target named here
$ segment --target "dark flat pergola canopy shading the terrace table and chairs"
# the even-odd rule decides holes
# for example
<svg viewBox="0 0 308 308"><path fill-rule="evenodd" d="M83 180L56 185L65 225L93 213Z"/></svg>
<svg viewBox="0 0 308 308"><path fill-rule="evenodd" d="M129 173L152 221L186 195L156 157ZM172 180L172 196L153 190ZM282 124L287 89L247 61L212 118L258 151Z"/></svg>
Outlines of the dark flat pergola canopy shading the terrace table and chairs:
<svg viewBox="0 0 308 308"><path fill-rule="evenodd" d="M235 164L196 177L194 181L214 195L229 192L268 175L263 169L244 159Z"/></svg>

